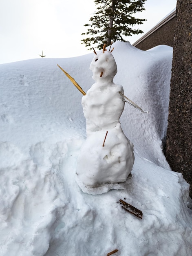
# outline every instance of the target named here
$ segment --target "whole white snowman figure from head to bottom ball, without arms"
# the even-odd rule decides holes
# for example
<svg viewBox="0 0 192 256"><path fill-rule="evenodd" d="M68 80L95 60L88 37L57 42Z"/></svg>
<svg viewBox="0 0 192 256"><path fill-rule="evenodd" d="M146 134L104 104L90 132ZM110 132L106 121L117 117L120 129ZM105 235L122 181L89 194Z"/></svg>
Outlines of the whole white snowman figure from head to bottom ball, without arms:
<svg viewBox="0 0 192 256"><path fill-rule="evenodd" d="M95 83L82 98L87 138L78 157L77 177L84 186L98 187L126 181L134 154L133 144L124 135L119 122L124 110L119 92L124 93L124 90L113 83L117 73L113 55L97 54L90 69Z"/></svg>

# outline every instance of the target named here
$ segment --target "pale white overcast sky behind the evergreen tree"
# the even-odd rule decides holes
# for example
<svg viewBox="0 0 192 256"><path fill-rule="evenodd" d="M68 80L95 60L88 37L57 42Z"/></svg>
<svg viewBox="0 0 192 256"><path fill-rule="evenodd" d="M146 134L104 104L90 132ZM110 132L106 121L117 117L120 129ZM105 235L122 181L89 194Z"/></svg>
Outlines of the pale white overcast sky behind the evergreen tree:
<svg viewBox="0 0 192 256"><path fill-rule="evenodd" d="M167 16L177 0L147 0L137 17L144 34ZM0 0L0 63L40 58L66 58L89 53L81 44L84 24L95 11L94 0ZM135 27L136 28L136 27ZM143 34L126 38L130 43Z"/></svg>

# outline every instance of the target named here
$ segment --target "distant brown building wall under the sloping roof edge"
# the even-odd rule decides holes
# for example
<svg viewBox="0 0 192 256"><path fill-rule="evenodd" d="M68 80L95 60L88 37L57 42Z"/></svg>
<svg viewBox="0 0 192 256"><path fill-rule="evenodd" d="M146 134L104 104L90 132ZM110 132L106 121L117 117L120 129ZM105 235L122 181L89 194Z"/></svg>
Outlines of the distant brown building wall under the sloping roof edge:
<svg viewBox="0 0 192 256"><path fill-rule="evenodd" d="M169 45L173 47L174 43L175 17L169 20L162 27L154 31L150 36L145 38L141 43L136 45L140 50L146 51L157 45Z"/></svg>

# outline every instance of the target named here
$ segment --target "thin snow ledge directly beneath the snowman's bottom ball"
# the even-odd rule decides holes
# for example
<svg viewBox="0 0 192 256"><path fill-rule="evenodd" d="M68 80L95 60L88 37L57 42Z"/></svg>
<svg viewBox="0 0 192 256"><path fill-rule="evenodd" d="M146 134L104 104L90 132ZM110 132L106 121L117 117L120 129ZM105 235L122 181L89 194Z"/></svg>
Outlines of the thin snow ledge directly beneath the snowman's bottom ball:
<svg viewBox="0 0 192 256"><path fill-rule="evenodd" d="M88 193L91 195L101 195L101 194L107 193L109 190L112 190L112 189L116 189L116 190L126 189L127 185L131 183L131 180L132 180L132 175L130 173L125 182L105 183L98 186L88 186L78 179L78 175L75 175L75 181L77 182L79 187L82 189L82 191L84 193Z"/></svg>

